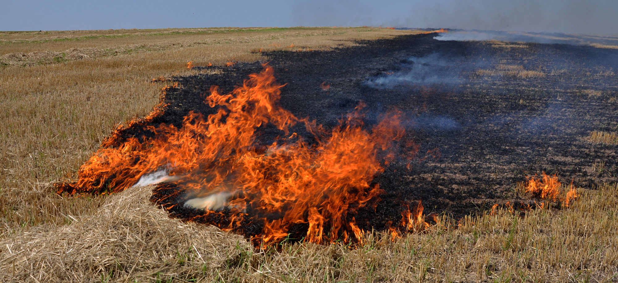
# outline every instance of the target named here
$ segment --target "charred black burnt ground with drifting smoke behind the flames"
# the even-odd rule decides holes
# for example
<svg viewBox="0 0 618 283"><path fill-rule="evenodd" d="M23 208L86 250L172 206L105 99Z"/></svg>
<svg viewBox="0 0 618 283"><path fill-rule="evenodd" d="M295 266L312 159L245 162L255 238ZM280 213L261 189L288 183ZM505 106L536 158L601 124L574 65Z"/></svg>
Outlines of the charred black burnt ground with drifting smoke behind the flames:
<svg viewBox="0 0 618 283"><path fill-rule="evenodd" d="M418 200L426 214L455 218L494 203L522 200L515 184L541 172L559 174L562 183L573 181L586 188L616 181L617 146L591 143L585 137L592 130L618 130L617 78L611 70L618 62L618 50L564 44L504 48L485 42L438 41L434 36L399 36L335 51L264 54L278 82L287 84L282 88L283 108L297 117L332 127L360 101L368 104L368 124L392 108L407 115L407 138L420 146L418 156L412 163L401 158L376 177L386 192L375 209L361 209L355 215L363 229L399 222L404 205ZM381 87L369 83L389 75L405 78L420 67L414 58L432 54L452 63L444 67L451 77L443 82L404 79ZM499 65L520 65L546 76L476 72L499 70ZM222 74L181 78L183 88L167 92L171 105L153 124L180 125L192 110L212 113L202 96L211 85L231 91L262 67L256 62L221 69ZM329 90L323 90L322 83L330 85ZM295 131L302 134L302 129ZM140 137L142 132L129 129L125 135ZM266 130L260 138L268 143L278 134ZM593 169L595 162L604 163L603 168ZM227 225L225 218L200 220L199 211L171 207L182 202L173 187L161 185L153 196L153 200L171 196L166 207L172 216ZM246 224L245 235L260 230L256 224Z"/></svg>

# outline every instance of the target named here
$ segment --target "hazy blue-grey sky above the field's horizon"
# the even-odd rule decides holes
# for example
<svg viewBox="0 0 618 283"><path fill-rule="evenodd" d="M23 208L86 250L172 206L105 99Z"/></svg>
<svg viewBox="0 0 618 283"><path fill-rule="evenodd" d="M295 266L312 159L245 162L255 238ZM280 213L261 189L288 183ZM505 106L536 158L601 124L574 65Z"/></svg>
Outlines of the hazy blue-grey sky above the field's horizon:
<svg viewBox="0 0 618 283"><path fill-rule="evenodd" d="M1 0L0 30L383 26L618 34L617 0Z"/></svg>

